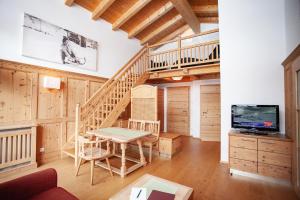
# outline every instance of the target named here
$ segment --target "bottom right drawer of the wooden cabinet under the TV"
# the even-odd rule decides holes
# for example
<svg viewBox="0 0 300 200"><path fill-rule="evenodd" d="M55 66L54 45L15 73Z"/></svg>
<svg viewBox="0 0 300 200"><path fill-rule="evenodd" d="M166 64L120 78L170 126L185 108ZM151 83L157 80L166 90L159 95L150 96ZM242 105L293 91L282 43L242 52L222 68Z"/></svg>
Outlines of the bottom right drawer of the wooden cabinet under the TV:
<svg viewBox="0 0 300 200"><path fill-rule="evenodd" d="M263 176L271 176L274 178L290 180L292 170L289 167L279 167L264 163L258 163L258 174Z"/></svg>

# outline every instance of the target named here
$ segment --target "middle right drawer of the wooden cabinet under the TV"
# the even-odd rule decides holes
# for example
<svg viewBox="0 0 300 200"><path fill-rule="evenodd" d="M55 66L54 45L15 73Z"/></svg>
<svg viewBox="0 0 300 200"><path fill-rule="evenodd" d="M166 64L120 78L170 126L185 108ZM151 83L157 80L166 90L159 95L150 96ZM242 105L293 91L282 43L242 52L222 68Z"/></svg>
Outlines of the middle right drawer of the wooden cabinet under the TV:
<svg viewBox="0 0 300 200"><path fill-rule="evenodd" d="M258 162L281 167L291 167L292 165L290 155L265 151L258 151Z"/></svg>

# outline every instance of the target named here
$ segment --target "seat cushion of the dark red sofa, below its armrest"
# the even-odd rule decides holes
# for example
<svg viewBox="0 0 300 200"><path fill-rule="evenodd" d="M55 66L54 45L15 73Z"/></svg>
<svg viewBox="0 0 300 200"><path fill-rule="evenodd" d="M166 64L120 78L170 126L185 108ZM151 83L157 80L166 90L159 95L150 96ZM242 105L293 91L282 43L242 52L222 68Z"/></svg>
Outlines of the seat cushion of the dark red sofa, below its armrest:
<svg viewBox="0 0 300 200"><path fill-rule="evenodd" d="M52 188L30 198L31 200L76 200L77 197L61 187Z"/></svg>

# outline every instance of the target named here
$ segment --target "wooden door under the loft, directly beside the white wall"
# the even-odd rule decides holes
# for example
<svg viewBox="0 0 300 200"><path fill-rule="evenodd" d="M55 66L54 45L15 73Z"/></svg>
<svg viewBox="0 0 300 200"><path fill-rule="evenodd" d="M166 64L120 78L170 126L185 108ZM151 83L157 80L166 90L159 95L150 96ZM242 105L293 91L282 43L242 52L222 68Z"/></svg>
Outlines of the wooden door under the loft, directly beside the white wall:
<svg viewBox="0 0 300 200"><path fill-rule="evenodd" d="M200 138L220 141L220 85L200 87Z"/></svg>

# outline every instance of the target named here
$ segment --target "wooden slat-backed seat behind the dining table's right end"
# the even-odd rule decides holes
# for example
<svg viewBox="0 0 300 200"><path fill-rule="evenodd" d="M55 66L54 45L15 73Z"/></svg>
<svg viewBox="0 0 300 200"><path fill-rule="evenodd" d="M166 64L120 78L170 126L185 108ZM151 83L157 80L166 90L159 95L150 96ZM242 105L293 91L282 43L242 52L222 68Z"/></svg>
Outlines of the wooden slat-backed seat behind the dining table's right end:
<svg viewBox="0 0 300 200"><path fill-rule="evenodd" d="M150 136L142 138L143 146L149 148L149 162L151 163L153 147L156 146L158 149L160 121L129 119L128 128L151 132Z"/></svg>

